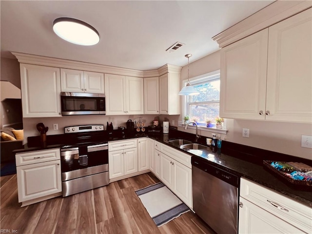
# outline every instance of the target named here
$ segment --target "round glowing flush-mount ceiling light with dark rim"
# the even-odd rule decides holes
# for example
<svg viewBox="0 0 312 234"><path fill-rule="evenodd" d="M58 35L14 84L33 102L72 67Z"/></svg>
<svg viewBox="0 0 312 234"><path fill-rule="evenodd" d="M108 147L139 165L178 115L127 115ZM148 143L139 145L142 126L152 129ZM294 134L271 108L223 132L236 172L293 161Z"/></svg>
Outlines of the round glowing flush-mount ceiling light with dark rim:
<svg viewBox="0 0 312 234"><path fill-rule="evenodd" d="M98 31L81 20L61 17L53 21L53 31L64 40L78 45L95 45L99 41Z"/></svg>

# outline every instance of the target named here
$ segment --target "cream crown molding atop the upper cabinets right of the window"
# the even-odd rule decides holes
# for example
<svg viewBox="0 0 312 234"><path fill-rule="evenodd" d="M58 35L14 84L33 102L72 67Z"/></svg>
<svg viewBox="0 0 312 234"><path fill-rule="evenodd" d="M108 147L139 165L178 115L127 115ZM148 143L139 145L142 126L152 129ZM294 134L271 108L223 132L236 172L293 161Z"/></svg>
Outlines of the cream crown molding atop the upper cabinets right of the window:
<svg viewBox="0 0 312 234"><path fill-rule="evenodd" d="M250 17L242 20L225 31L219 33L212 39L220 48L234 43L237 40L248 37L262 29L265 29L281 20L312 7L311 0L305 1L283 1L277 0Z"/></svg>

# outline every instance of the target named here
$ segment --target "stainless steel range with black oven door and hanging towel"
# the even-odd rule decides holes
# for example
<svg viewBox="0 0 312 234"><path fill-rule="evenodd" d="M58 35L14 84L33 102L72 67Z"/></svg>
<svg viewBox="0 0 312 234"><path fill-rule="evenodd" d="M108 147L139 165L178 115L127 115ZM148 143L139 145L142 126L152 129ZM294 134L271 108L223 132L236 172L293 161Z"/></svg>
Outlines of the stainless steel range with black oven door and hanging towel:
<svg viewBox="0 0 312 234"><path fill-rule="evenodd" d="M68 134L61 147L63 197L109 184L108 143L104 125L65 127Z"/></svg>

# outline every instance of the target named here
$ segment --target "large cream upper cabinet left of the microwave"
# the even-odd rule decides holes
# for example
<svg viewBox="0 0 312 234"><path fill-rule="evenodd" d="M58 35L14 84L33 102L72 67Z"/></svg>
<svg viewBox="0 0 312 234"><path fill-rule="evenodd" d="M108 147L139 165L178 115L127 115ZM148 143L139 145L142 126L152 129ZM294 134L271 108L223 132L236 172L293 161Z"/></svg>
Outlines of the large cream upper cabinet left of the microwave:
<svg viewBox="0 0 312 234"><path fill-rule="evenodd" d="M20 63L23 117L61 117L59 68Z"/></svg>

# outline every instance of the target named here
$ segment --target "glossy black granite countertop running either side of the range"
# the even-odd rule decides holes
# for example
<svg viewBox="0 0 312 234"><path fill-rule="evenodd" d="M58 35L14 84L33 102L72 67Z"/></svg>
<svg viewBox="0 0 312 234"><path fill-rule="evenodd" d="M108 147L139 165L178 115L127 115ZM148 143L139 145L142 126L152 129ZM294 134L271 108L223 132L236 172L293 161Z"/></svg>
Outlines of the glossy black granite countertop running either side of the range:
<svg viewBox="0 0 312 234"><path fill-rule="evenodd" d="M312 207L312 189L310 191L302 191L299 189L295 189L291 187L289 184L284 183L280 178L277 178L272 173L270 173L268 170L266 170L262 165L262 159L256 154L265 154L266 156L269 156L272 158L272 160L281 160L280 158L285 158L286 155L281 155L274 152L269 151L263 151L261 149L256 149L253 147L245 147L242 145L238 145L239 151L233 150L233 146L230 142L223 141L222 142L222 149L216 151L215 153L207 146L205 150L202 151L196 151L196 150L183 150L179 148L179 145L173 145L169 143L169 139L174 138L183 138L188 139L191 141L194 141L195 137L193 134L187 134L184 132L179 131L171 131L170 134L137 134L132 136L126 136L124 138L121 137L114 137L114 138L105 138L103 137L103 140L107 141L114 141L114 140L123 140L123 139L132 139L132 138L139 138L139 137L150 137L152 139L155 139L161 143L164 143L166 145L169 145L171 147L174 147L175 149L190 154L191 156L195 156L196 158L203 160L206 163L209 163L215 167L218 167L220 169L223 169L225 171L228 171L230 173L233 173L234 175L244 177L247 179L250 179L258 184L263 185L264 187L267 187L269 189L272 189L282 195L285 195L289 198L292 198L302 204L305 204L307 206ZM202 137L203 139L206 139L206 137ZM202 139L202 140L203 140ZM22 153L22 152L29 152L29 151L35 151L35 150L46 150L46 149L54 149L54 148L60 148L61 144L57 141L51 140L49 144L40 145L40 144L31 144L30 146L28 144L25 144L22 149L15 150L14 153ZM204 142L198 142L202 145L206 145ZM231 148L232 147L232 148ZM242 151L247 150L247 153L242 153ZM224 153L226 152L226 153ZM251 154L252 152L252 154ZM247 157L242 157L241 155L247 155ZM275 156L276 155L276 156ZM291 156L292 158L293 156ZM249 160L249 159L253 160ZM257 160L254 160L257 159ZM265 158L267 160L268 158ZM293 159L293 158L292 158ZM295 158L297 160L301 160L301 158ZM302 159L304 163L307 163L307 159ZM308 164L311 160L308 160Z"/></svg>

